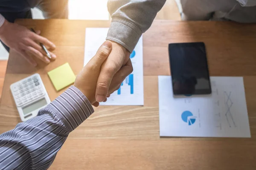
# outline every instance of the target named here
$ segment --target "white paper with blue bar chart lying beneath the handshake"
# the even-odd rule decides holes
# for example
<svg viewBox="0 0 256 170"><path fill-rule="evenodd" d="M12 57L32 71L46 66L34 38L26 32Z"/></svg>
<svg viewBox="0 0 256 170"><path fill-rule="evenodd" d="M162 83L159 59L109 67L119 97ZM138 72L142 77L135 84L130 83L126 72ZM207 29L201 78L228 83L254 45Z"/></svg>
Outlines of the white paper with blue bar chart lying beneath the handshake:
<svg viewBox="0 0 256 170"><path fill-rule="evenodd" d="M96 54L105 41L108 28L86 28L84 65ZM130 56L134 71L126 77L121 87L100 105L144 105L143 44L142 37Z"/></svg>

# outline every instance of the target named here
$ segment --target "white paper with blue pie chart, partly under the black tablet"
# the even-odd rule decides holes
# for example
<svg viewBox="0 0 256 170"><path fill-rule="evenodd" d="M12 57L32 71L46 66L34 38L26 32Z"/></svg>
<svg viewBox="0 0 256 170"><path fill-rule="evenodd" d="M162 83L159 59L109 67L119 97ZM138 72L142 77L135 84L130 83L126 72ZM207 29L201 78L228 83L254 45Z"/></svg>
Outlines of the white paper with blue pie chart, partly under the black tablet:
<svg viewBox="0 0 256 170"><path fill-rule="evenodd" d="M160 136L250 137L243 77L211 77L212 94L174 96L158 77Z"/></svg>

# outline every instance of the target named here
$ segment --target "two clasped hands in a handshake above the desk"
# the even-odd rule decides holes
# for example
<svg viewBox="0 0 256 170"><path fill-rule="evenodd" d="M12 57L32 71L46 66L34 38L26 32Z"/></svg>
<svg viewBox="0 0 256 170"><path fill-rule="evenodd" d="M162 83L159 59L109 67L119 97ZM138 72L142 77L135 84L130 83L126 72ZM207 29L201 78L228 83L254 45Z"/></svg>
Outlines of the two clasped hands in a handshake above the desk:
<svg viewBox="0 0 256 170"><path fill-rule="evenodd" d="M132 71L130 52L116 42L105 41L77 75L74 86L97 107Z"/></svg>

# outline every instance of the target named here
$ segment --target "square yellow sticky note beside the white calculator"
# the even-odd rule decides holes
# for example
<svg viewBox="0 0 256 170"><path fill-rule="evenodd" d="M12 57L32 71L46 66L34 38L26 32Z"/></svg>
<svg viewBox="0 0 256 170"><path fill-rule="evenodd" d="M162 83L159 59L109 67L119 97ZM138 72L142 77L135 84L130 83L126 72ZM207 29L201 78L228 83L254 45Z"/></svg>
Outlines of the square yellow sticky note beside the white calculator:
<svg viewBox="0 0 256 170"><path fill-rule="evenodd" d="M76 79L76 76L68 63L49 71L48 76L57 91L72 84Z"/></svg>

